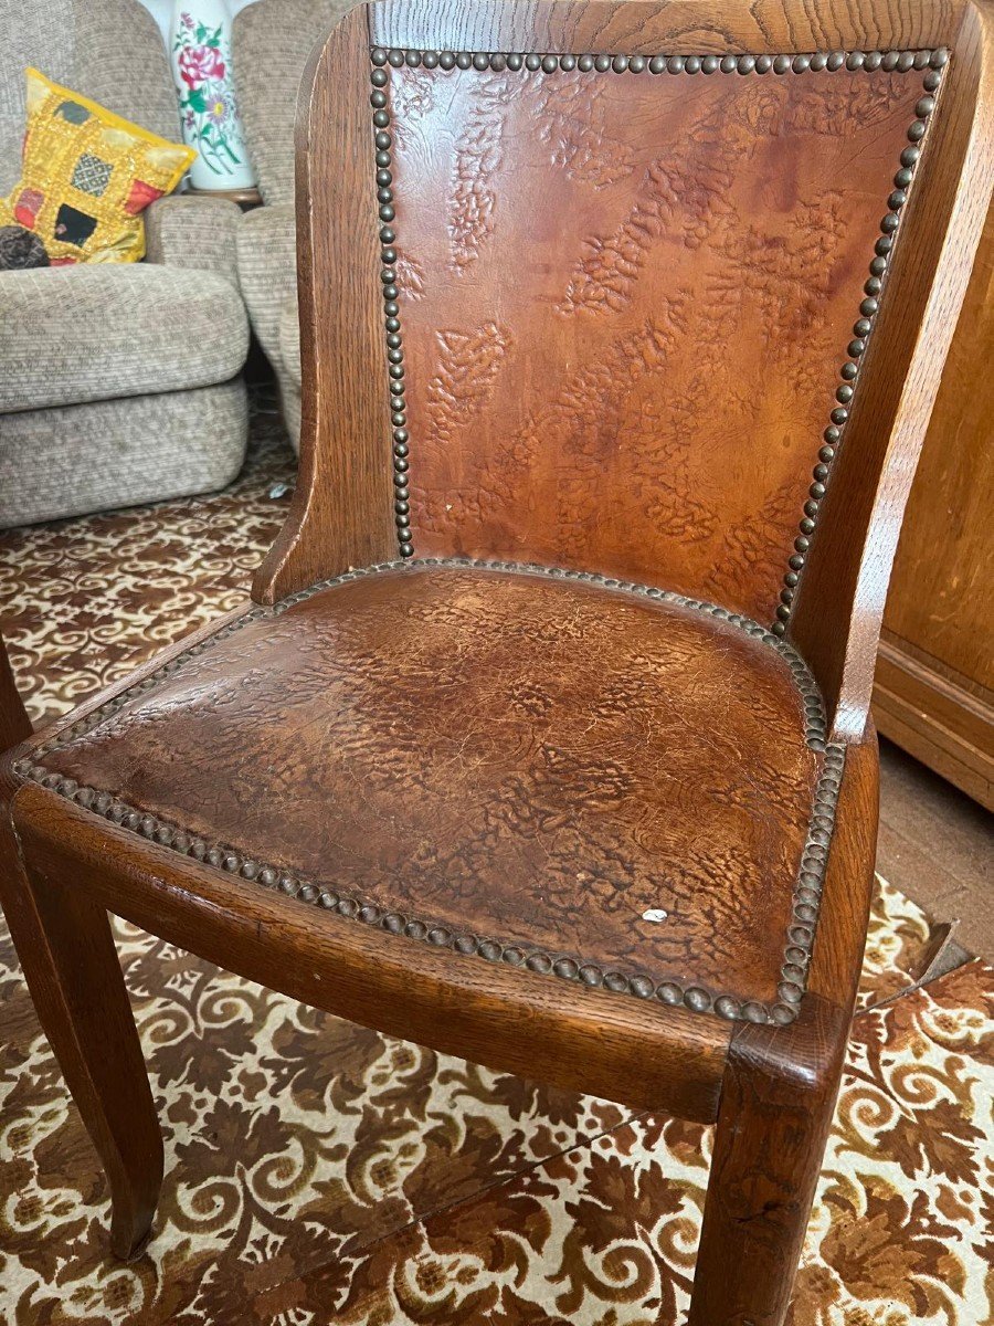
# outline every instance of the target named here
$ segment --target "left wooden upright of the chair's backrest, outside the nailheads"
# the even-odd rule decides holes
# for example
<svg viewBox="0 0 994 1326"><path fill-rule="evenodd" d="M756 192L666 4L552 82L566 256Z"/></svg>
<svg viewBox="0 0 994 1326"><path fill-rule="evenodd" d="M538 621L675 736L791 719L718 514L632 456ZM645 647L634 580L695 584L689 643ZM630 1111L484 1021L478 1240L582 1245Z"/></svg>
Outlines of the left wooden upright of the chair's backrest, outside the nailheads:
<svg viewBox="0 0 994 1326"><path fill-rule="evenodd" d="M301 467L288 522L256 575L258 602L384 561L395 546L367 66L359 7L314 52L301 84Z"/></svg>

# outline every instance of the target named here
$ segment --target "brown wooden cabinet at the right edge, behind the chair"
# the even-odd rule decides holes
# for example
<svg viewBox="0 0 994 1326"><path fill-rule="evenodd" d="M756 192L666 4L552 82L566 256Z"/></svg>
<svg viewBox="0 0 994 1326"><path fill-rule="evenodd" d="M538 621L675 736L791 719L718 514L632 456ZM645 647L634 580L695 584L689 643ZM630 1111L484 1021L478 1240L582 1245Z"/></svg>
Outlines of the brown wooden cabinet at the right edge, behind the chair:
<svg viewBox="0 0 994 1326"><path fill-rule="evenodd" d="M994 208L897 549L880 732L994 809Z"/></svg>

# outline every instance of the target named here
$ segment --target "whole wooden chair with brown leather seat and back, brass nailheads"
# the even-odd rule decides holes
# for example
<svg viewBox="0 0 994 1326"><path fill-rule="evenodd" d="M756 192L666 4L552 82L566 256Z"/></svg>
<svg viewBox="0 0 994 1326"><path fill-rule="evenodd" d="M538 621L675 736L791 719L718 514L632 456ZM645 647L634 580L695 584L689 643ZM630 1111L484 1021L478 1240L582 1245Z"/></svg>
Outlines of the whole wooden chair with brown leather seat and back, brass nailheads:
<svg viewBox="0 0 994 1326"><path fill-rule="evenodd" d="M107 910L717 1120L690 1322L783 1319L990 44L945 0L382 0L334 30L300 122L301 479L254 606L7 758L5 911L119 1256L162 1147Z"/></svg>

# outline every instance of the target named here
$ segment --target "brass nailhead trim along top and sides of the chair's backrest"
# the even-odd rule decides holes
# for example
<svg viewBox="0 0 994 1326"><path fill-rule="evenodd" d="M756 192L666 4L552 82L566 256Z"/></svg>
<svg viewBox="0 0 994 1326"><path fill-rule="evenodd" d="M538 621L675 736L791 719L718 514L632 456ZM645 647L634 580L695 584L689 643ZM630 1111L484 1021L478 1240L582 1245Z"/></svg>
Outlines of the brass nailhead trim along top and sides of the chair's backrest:
<svg viewBox="0 0 994 1326"><path fill-rule="evenodd" d="M901 152L900 170L893 178L893 192L887 200L887 215L880 221L881 236L876 243L873 260L869 264L869 277L864 285L864 300L860 304L860 316L854 325L854 339L848 345L848 358L839 370L842 379L835 391L835 406L831 411L831 420L823 434L823 444L818 452L818 461L811 473L811 485L804 501L803 514L794 540L794 549L789 558L787 570L783 574L783 587L779 593L779 605L771 630L777 635L783 635L791 615L791 605L801 583L801 574L811 546L811 537L818 525L818 513L827 492L831 475L832 460L838 453L843 440L846 423L850 418L851 404L859 381L860 359L867 349L867 339L873 329L879 308L879 296L887 277L888 259L893 249L895 235L900 224L900 212L908 200L914 166L921 154L921 139L925 137L928 119L936 107L936 93L938 91L942 69L948 64L949 52L938 50L831 50L814 52L811 54L795 56L595 56L595 54L521 54L521 53L494 53L482 52L452 52L452 50L406 50L384 49L374 46L370 56L372 61L372 94L370 101L374 107L374 130L376 146L376 184L380 220L394 220L394 194L390 188L392 183L390 147L392 137L390 134L390 107L388 88L390 76L386 66L400 69L402 66L424 69L476 69L480 72L493 70L517 72L527 69L530 72L542 70L554 73L557 70L579 70L580 73L649 73L649 74L787 74L807 72L835 72L838 69L867 69L869 72L883 69L885 72L911 73L925 70L922 80L922 97L914 107L916 119L908 129L908 147ZM404 374L403 353L399 324L398 282L396 282L396 249L394 243L396 235L390 224L380 231L380 240L384 251L382 280L384 292L384 313L387 321L387 358L390 362L390 390L391 422L394 426L394 513L398 526L398 546L402 557L414 556L414 536L411 530L411 496L408 483L408 432L407 411L403 400ZM391 358L392 355L392 358Z"/></svg>

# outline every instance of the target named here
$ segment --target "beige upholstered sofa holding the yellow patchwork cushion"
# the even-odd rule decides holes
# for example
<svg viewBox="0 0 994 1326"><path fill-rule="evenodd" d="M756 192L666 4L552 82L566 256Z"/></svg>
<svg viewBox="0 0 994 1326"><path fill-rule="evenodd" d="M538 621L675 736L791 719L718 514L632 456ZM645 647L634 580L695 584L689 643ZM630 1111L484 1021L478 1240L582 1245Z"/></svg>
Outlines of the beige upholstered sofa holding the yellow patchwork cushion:
<svg viewBox="0 0 994 1326"><path fill-rule="evenodd" d="M0 0L0 194L20 178L24 68L179 138L138 0ZM0 272L0 528L220 488L248 434L233 203L167 198L148 257Z"/></svg>

